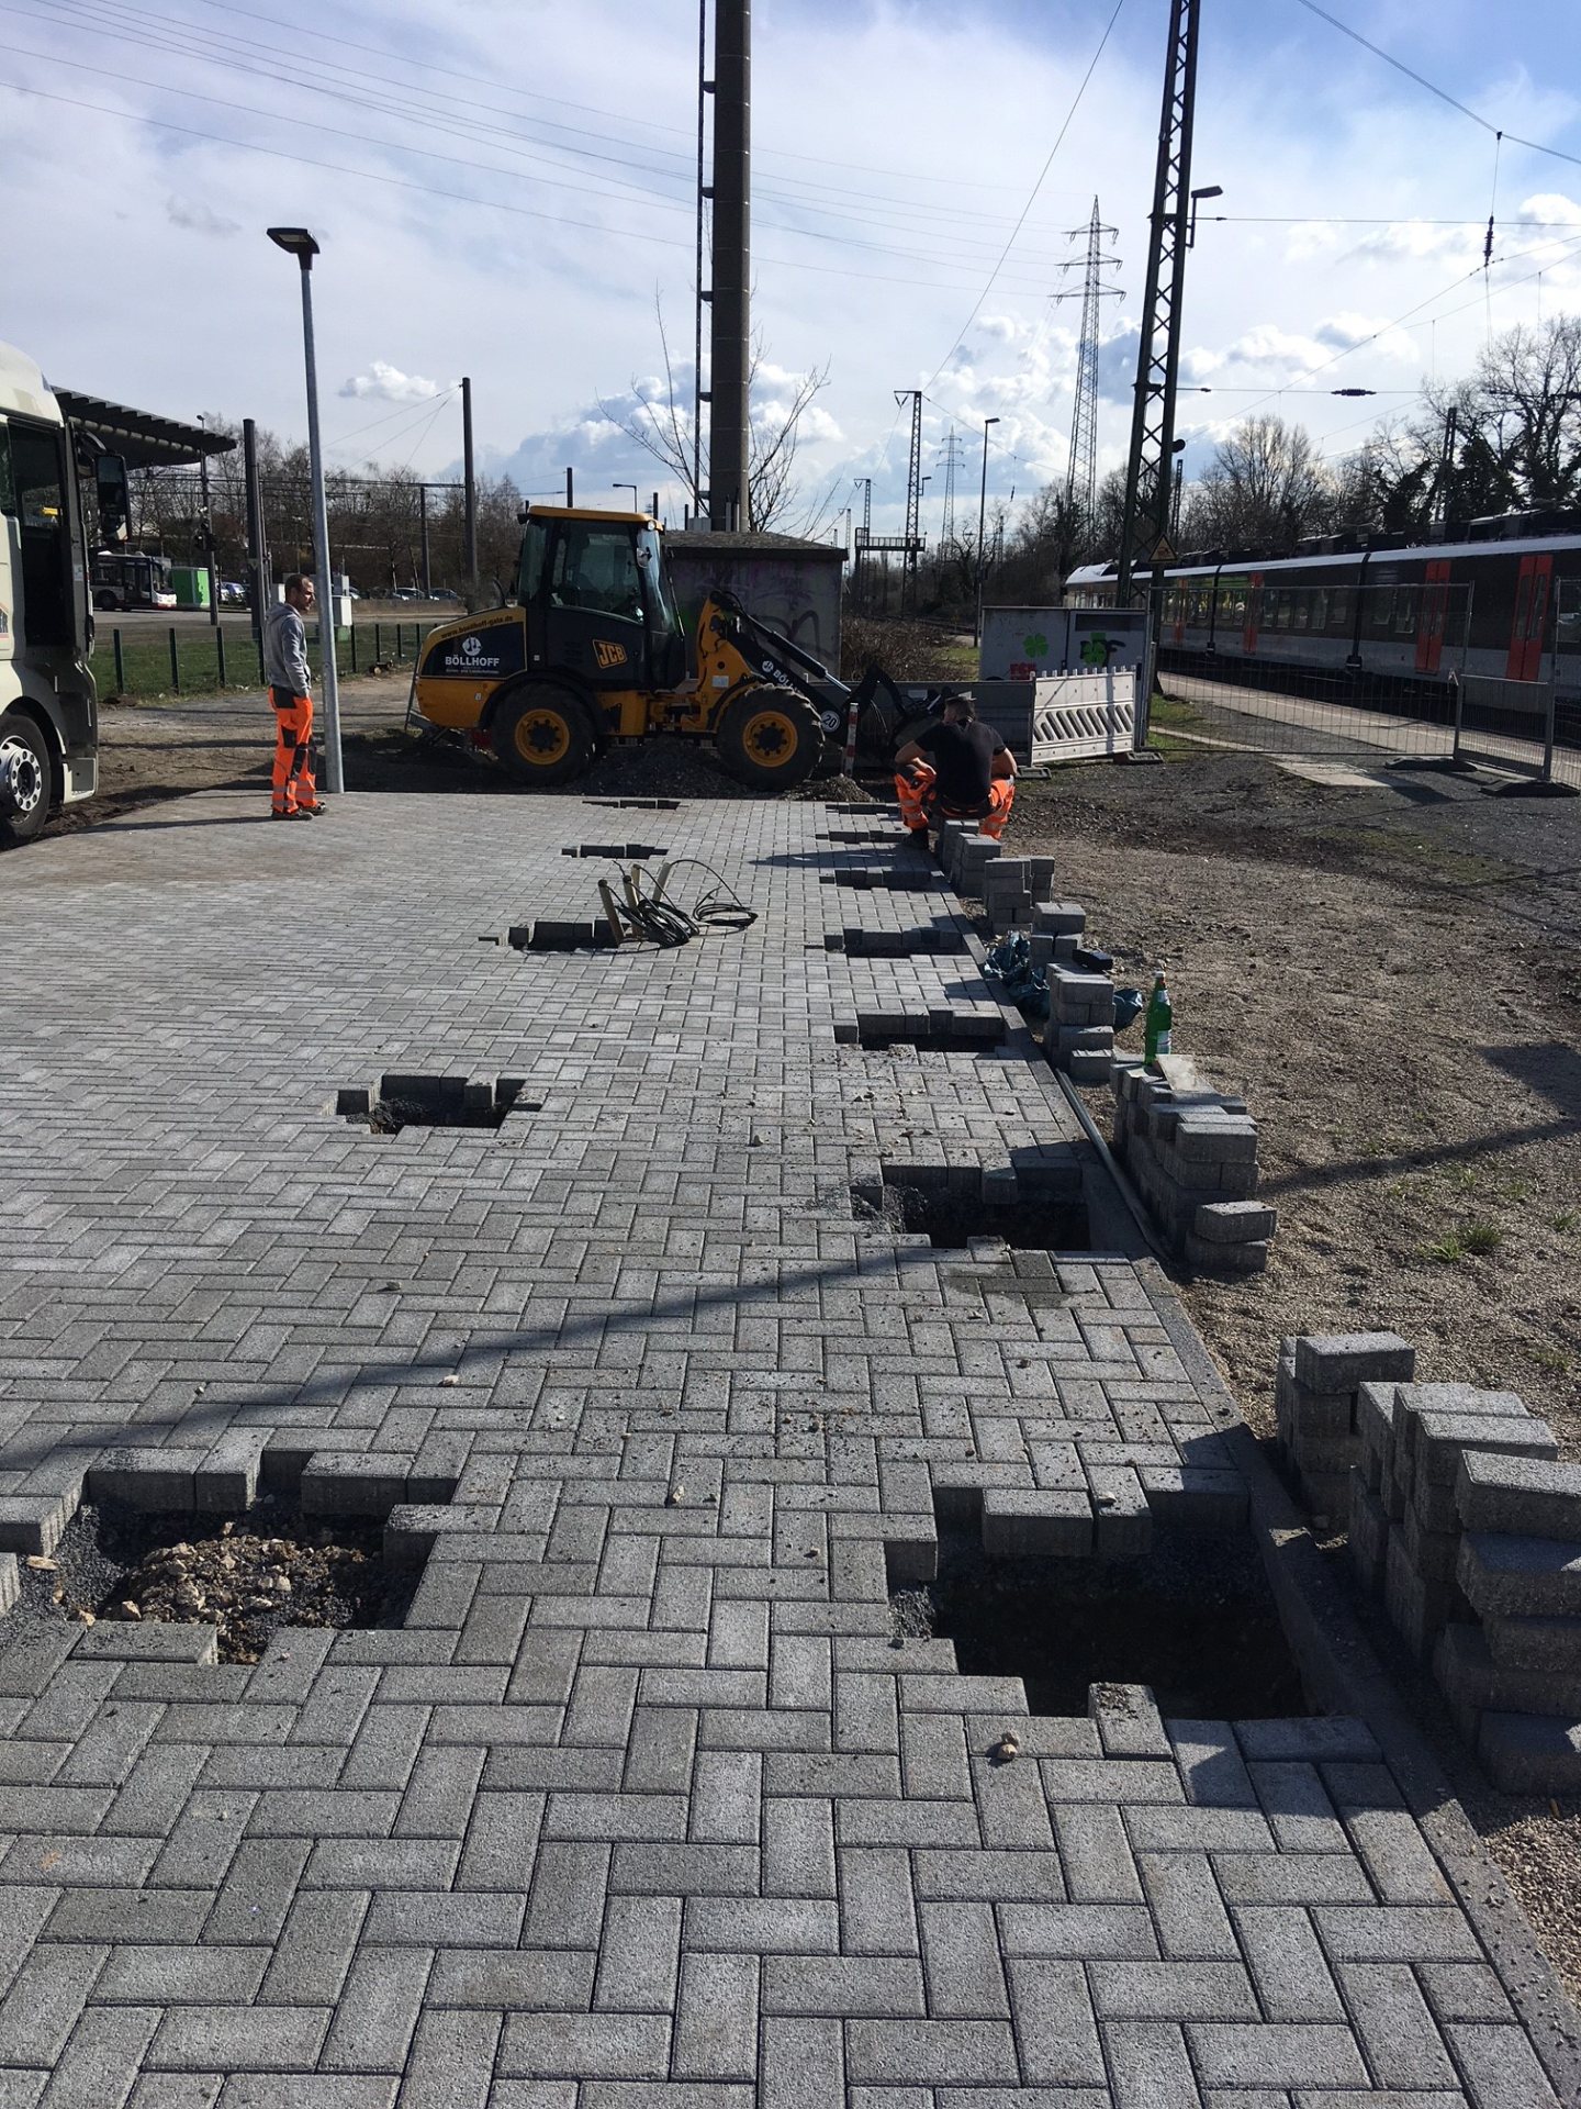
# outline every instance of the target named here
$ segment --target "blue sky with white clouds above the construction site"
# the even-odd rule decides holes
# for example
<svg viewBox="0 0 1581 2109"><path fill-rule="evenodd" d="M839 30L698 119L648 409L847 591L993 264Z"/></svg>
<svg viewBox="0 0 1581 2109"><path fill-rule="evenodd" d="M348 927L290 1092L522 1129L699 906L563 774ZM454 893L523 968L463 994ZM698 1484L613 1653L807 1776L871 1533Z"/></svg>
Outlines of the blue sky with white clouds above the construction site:
<svg viewBox="0 0 1581 2109"><path fill-rule="evenodd" d="M1324 4L1495 124L1581 154L1575 0ZM877 521L900 502L896 388L928 390L932 531L951 424L961 485L984 418L993 496L1062 475L1077 310L1048 295L1094 192L1126 293L1107 304L1100 456L1124 456L1166 0L1124 0L1033 198L1111 8L757 0L761 407L828 365L801 458L826 529L854 477L873 475ZM694 0L0 13L0 80L34 91L0 91L4 327L53 378L301 430L293 268L261 234L301 219L325 243L335 460L445 472L468 371L483 458L527 489L567 462L582 489L664 483L601 405L651 392L656 304L689 352ZM1193 179L1233 215L1204 224L1191 259L1193 466L1252 407L1343 453L1490 327L1581 299L1581 169L1505 141L1484 280L1492 137L1299 0L1206 0ZM1379 394L1326 392L1345 384Z"/></svg>

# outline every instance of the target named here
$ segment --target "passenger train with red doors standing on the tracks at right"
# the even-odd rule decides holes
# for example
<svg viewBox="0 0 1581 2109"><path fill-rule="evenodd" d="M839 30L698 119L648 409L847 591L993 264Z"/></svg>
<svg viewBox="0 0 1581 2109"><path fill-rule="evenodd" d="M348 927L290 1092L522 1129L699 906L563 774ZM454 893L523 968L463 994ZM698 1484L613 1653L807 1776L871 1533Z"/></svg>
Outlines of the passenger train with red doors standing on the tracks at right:
<svg viewBox="0 0 1581 2109"><path fill-rule="evenodd" d="M1452 525L1442 542L1326 536L1292 557L1208 550L1164 578L1166 666L1212 658L1235 681L1256 666L1433 688L1450 673L1556 671L1562 694L1581 690L1581 515L1499 515ZM1113 603L1115 565L1077 567L1065 597Z"/></svg>

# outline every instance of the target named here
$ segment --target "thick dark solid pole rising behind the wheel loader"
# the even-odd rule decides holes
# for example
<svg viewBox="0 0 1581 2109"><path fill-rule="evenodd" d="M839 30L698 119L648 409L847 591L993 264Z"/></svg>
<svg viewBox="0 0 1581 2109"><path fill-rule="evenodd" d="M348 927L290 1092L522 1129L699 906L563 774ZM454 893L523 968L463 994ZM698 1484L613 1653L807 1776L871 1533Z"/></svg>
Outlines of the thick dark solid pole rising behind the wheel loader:
<svg viewBox="0 0 1581 2109"><path fill-rule="evenodd" d="M715 283L708 354L708 525L748 531L753 6L715 6Z"/></svg>

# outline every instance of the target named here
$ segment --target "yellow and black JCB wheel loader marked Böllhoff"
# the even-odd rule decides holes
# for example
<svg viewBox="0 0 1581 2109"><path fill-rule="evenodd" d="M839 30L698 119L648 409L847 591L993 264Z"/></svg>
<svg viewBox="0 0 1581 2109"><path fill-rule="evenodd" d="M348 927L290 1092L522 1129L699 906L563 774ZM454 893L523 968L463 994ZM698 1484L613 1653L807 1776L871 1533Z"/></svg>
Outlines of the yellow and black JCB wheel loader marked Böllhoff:
<svg viewBox="0 0 1581 2109"><path fill-rule="evenodd" d="M613 744L679 732L708 740L738 782L784 791L812 774L826 723L803 683L812 654L713 593L685 633L647 512L531 506L514 595L430 631L413 700L430 725L489 747L523 785L565 785Z"/></svg>

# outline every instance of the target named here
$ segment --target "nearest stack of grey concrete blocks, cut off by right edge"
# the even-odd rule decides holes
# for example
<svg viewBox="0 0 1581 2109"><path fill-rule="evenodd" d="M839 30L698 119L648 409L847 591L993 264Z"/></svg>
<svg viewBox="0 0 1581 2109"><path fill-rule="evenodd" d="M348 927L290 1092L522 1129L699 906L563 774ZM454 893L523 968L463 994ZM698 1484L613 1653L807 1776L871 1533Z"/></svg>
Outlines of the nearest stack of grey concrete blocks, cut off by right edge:
<svg viewBox="0 0 1581 2109"><path fill-rule="evenodd" d="M1505 1793L1581 1788L1581 1466L1516 1392L1364 1384L1351 1559Z"/></svg>

